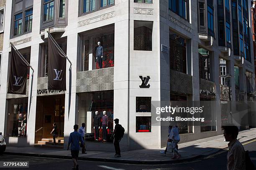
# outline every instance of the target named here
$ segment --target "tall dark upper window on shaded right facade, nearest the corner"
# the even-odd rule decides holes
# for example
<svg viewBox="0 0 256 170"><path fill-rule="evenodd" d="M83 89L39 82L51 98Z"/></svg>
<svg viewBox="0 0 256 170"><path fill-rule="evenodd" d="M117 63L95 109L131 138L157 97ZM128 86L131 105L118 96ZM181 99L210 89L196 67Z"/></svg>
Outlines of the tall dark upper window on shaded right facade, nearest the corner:
<svg viewBox="0 0 256 170"><path fill-rule="evenodd" d="M170 32L170 69L187 74L187 48L186 40L179 35Z"/></svg>

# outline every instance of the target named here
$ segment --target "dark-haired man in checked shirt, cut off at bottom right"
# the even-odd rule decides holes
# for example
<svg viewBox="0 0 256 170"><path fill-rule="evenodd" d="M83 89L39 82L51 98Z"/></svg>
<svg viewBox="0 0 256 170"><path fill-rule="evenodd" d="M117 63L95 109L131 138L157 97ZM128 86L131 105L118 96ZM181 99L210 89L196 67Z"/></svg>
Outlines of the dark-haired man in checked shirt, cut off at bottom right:
<svg viewBox="0 0 256 170"><path fill-rule="evenodd" d="M245 170L245 151L243 145L237 140L238 128L236 126L222 126L223 136L228 143L227 170Z"/></svg>

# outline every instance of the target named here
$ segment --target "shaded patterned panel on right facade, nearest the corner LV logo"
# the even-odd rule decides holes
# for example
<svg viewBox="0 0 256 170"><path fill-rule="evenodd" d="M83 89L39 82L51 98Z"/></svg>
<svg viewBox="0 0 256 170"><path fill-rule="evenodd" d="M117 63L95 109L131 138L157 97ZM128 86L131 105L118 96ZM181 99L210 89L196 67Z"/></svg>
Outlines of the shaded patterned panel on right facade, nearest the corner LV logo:
<svg viewBox="0 0 256 170"><path fill-rule="evenodd" d="M183 94L193 94L192 76L170 70L170 90Z"/></svg>

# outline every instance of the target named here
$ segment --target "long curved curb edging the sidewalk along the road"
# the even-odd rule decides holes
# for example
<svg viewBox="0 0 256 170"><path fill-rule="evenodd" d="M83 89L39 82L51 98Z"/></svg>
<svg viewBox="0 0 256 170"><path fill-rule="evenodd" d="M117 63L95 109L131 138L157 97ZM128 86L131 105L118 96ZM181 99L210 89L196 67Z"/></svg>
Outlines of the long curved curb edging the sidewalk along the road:
<svg viewBox="0 0 256 170"><path fill-rule="evenodd" d="M246 140L243 143L246 143L251 140L255 140L256 138L252 138L250 140ZM197 155L191 158L186 158L186 159L179 159L179 160L126 160L126 159L118 159L118 158L99 158L99 157L91 157L91 158L86 158L86 157L78 157L78 160L86 160L86 161L95 161L95 162L110 162L110 163L133 163L133 164L174 164L174 163L184 163L188 162L190 160L195 160L199 158L206 158L210 155L214 155L216 153L219 153L226 148L219 149L218 151L214 153L210 153L208 155ZM32 156L32 157L40 157L40 158L59 158L59 159L67 159L71 160L71 156L68 155L46 155L46 154L36 154L36 153L12 153L12 152L4 152L4 155L20 155L20 156Z"/></svg>

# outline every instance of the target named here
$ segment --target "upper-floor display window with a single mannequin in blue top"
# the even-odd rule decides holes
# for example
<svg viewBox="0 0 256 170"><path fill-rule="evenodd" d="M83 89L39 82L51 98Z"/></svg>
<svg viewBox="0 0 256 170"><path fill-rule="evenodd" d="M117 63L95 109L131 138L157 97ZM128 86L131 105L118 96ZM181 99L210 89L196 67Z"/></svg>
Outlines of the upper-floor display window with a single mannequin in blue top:
<svg viewBox="0 0 256 170"><path fill-rule="evenodd" d="M114 67L114 24L81 33L80 71Z"/></svg>

